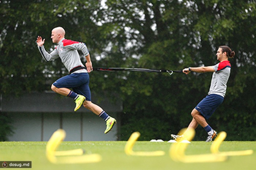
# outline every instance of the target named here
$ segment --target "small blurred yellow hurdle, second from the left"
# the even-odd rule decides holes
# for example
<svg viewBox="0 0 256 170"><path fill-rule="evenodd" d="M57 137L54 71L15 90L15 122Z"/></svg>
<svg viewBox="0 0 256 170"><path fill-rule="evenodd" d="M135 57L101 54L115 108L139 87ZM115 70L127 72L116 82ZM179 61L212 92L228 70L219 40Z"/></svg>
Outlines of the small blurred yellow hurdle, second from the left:
<svg viewBox="0 0 256 170"><path fill-rule="evenodd" d="M137 139L140 136L140 132L133 132L132 135L130 136L130 138L128 139L125 148L124 148L124 152L127 155L135 155L135 156L162 156L165 154L164 151L151 151L151 152L135 152L132 150L135 142L137 141Z"/></svg>

